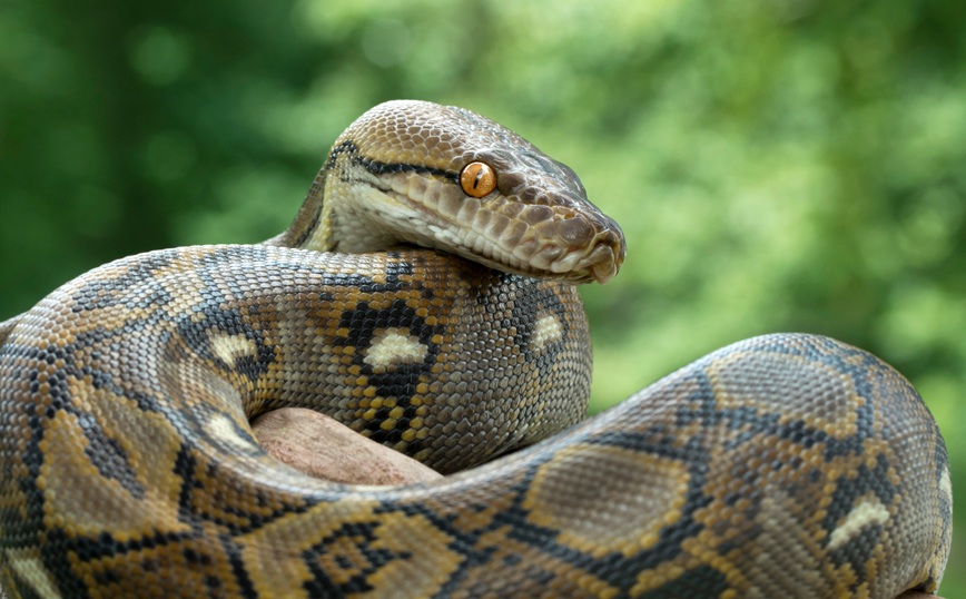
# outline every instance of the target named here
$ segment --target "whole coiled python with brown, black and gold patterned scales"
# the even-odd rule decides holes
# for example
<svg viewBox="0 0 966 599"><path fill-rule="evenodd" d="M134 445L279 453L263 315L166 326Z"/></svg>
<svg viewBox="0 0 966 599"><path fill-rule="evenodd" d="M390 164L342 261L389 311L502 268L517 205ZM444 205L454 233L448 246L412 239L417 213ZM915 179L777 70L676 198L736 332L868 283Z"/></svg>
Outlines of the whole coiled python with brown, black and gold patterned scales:
<svg viewBox="0 0 966 599"><path fill-rule="evenodd" d="M581 423L591 351L573 284L612 278L624 249L576 175L516 134L454 107L373 108L278 237L127 257L0 327L0 586L937 589L946 448L911 385L861 350L748 340ZM455 473L398 488L304 475L248 425L284 405Z"/></svg>

